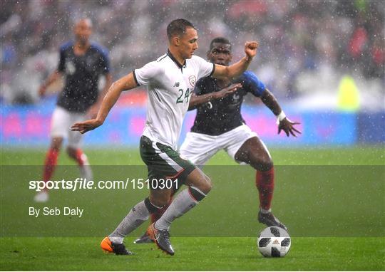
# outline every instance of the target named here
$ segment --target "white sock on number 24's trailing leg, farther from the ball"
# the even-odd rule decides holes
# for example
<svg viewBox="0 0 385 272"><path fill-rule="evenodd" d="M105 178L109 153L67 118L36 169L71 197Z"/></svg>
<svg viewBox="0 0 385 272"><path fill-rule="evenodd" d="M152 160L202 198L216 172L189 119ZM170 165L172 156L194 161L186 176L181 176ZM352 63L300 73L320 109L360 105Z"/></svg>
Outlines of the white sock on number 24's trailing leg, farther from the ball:
<svg viewBox="0 0 385 272"><path fill-rule="evenodd" d="M147 221L150 212L145 206L144 200L136 204L133 209L125 216L119 226L108 237L115 244L122 244L125 236L138 228L144 221Z"/></svg>

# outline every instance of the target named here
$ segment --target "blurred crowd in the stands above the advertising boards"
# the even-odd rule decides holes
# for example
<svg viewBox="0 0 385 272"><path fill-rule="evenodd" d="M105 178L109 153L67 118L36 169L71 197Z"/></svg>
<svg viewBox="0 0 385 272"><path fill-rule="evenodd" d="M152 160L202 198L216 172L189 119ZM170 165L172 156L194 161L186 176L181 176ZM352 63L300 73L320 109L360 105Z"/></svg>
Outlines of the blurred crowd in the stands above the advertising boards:
<svg viewBox="0 0 385 272"><path fill-rule="evenodd" d="M39 83L57 66L59 46L73 37L74 20L85 16L93 21L92 39L110 52L115 79L165 53L168 23L185 18L198 30L198 56L205 57L216 36L232 41L235 60L243 56L245 41L259 41L250 70L281 99L311 91L311 85L302 84L309 74L323 80L323 88L344 73L382 85L384 11L383 1L367 0L4 0L1 98L34 101Z"/></svg>

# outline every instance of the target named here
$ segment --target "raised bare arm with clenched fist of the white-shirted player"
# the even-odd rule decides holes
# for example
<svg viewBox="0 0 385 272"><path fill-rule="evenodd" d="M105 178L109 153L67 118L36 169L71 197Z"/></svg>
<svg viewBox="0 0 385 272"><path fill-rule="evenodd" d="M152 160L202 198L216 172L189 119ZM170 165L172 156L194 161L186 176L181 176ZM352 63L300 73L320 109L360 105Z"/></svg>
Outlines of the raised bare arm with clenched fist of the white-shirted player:
<svg viewBox="0 0 385 272"><path fill-rule="evenodd" d="M231 66L221 66L219 64L215 64L215 70L212 76L214 78L229 78L231 80L232 78L237 78L242 75L242 73L247 70L247 67L249 67L252 58L254 58L257 54L257 48L257 41L247 41L245 43L246 56Z"/></svg>

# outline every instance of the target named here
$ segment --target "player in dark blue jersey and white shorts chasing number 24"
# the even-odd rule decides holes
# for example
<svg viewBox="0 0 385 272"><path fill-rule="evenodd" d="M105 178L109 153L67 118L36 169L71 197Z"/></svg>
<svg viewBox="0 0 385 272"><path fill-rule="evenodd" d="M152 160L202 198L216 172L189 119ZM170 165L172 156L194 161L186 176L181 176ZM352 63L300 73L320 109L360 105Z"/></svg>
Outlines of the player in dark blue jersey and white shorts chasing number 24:
<svg viewBox="0 0 385 272"><path fill-rule="evenodd" d="M210 43L207 59L212 63L229 66L232 61L232 46L227 38L214 38ZM289 120L274 95L267 90L255 73L247 71L235 80L212 77L201 78L195 85L189 110L197 109L191 132L180 147L180 155L195 165L204 165L218 151L225 150L236 162L250 164L257 170L255 184L260 196L258 221L266 226L287 227L272 214L274 191L274 164L265 144L245 125L240 113L243 98L247 93L262 100L277 117L278 133L297 137L298 122ZM156 221L161 214L151 218ZM147 234L135 240L136 244L150 242Z"/></svg>

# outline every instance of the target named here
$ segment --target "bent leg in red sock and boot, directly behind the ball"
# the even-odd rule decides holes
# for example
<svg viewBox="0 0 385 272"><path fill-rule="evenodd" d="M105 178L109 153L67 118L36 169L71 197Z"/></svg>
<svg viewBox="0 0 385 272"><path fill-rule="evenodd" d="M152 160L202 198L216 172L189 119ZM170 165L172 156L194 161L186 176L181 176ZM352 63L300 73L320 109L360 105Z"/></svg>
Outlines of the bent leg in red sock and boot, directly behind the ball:
<svg viewBox="0 0 385 272"><path fill-rule="evenodd" d="M247 140L235 154L235 159L250 164L257 170L255 184L260 194L258 221L267 226L279 226L287 229L271 211L274 192L274 164L266 146L258 137Z"/></svg>

